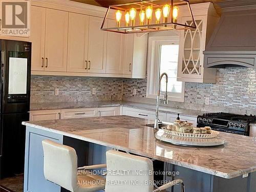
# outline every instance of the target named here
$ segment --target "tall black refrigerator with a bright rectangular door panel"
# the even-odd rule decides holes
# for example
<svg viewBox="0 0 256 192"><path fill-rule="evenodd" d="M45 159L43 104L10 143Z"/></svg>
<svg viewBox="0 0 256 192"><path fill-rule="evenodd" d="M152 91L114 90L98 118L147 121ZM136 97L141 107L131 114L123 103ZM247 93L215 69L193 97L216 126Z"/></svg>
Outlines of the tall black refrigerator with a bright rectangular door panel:
<svg viewBox="0 0 256 192"><path fill-rule="evenodd" d="M1 45L0 175L24 172L26 127L29 120L31 42L3 40Z"/></svg>

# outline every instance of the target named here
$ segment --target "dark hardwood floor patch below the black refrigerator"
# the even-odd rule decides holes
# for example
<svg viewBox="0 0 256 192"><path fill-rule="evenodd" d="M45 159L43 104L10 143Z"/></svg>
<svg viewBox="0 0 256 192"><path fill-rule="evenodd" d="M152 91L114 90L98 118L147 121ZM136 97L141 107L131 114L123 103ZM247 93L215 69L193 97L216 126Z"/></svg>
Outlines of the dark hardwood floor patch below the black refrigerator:
<svg viewBox="0 0 256 192"><path fill-rule="evenodd" d="M5 178L0 181L0 192L23 192L24 175Z"/></svg>

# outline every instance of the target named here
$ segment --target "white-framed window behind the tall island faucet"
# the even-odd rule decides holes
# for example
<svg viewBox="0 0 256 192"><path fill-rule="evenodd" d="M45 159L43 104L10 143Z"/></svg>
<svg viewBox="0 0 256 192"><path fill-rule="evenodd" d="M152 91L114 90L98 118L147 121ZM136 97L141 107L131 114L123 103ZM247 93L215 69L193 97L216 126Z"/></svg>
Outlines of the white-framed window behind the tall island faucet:
<svg viewBox="0 0 256 192"><path fill-rule="evenodd" d="M147 97L156 98L159 76L168 75L168 100L184 101L184 82L177 81L179 36L149 37L148 41ZM165 92L165 76L161 81L161 94Z"/></svg>

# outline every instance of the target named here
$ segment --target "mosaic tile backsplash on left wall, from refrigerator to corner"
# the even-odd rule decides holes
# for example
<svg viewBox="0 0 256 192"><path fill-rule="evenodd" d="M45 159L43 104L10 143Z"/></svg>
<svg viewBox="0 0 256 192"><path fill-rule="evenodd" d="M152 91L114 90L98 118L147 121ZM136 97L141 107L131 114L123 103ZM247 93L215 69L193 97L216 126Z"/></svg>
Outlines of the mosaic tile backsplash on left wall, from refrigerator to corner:
<svg viewBox="0 0 256 192"><path fill-rule="evenodd" d="M122 84L122 78L32 76L30 102L121 100ZM92 88L96 88L95 95Z"/></svg>

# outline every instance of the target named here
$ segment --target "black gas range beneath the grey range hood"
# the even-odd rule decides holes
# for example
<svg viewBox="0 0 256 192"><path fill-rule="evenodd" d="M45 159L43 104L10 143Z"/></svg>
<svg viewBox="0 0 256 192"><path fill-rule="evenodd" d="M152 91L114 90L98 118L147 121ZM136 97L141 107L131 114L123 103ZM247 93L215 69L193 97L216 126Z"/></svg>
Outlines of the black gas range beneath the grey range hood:
<svg viewBox="0 0 256 192"><path fill-rule="evenodd" d="M256 116L229 113L206 113L197 117L197 126L210 126L212 130L249 136L250 123Z"/></svg>

